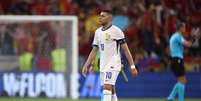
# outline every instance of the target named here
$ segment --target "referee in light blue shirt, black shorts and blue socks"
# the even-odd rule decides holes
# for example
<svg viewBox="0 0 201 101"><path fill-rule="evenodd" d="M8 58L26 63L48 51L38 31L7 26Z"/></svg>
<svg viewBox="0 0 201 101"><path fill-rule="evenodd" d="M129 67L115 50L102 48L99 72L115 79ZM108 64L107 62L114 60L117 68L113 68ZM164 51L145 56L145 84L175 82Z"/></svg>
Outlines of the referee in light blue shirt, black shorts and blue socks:
<svg viewBox="0 0 201 101"><path fill-rule="evenodd" d="M178 100L184 101L185 84L187 82L185 76L185 68L183 62L184 46L191 47L192 42L184 39L185 23L177 24L177 31L170 37L170 55L171 55L171 70L177 78L177 83L174 85L172 92L167 97L168 101L175 100L178 94Z"/></svg>

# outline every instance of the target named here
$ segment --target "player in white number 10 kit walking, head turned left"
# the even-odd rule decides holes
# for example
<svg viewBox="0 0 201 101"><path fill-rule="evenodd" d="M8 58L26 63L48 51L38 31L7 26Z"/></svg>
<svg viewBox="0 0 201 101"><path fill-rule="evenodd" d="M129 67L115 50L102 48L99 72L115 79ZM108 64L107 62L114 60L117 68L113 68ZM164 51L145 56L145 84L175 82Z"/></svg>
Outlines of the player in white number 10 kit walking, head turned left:
<svg viewBox="0 0 201 101"><path fill-rule="evenodd" d="M137 76L133 58L125 41L123 32L115 25L112 25L112 13L103 10L99 17L101 27L95 31L93 48L82 68L82 75L86 77L87 67L94 60L97 50L100 56L100 79L103 85L103 101L118 101L115 92L115 83L121 70L120 47L124 51L130 64L131 73ZM93 66L89 69L93 71Z"/></svg>

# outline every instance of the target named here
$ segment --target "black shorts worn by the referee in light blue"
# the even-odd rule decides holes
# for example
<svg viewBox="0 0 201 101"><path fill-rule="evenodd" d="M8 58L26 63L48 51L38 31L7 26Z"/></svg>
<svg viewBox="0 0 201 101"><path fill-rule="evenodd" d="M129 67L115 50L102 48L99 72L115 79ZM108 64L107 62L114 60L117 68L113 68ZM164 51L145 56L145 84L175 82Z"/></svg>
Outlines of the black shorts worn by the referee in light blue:
<svg viewBox="0 0 201 101"><path fill-rule="evenodd" d="M184 76L186 73L183 59L177 57L171 58L171 70L176 77Z"/></svg>

